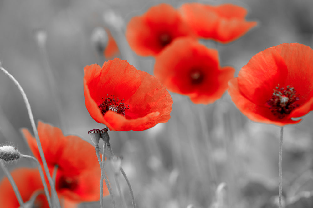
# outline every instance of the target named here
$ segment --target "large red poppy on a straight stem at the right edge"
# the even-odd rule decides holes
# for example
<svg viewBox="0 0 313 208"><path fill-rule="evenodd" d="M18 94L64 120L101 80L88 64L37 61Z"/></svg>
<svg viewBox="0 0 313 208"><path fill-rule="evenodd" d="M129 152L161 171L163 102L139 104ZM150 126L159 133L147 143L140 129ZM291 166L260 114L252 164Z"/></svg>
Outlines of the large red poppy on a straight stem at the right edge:
<svg viewBox="0 0 313 208"><path fill-rule="evenodd" d="M259 52L229 82L229 94L249 119L278 126L313 109L313 50L299 43Z"/></svg>

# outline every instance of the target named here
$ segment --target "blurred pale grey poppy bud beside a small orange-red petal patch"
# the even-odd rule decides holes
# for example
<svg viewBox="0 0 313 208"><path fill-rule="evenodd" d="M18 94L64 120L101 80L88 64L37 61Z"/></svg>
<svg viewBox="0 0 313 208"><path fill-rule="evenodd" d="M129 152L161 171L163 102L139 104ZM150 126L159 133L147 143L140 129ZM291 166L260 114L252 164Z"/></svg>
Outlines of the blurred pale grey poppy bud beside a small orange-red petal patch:
<svg viewBox="0 0 313 208"><path fill-rule="evenodd" d="M108 45L109 36L103 27L95 27L91 33L91 42L96 50L102 54Z"/></svg>

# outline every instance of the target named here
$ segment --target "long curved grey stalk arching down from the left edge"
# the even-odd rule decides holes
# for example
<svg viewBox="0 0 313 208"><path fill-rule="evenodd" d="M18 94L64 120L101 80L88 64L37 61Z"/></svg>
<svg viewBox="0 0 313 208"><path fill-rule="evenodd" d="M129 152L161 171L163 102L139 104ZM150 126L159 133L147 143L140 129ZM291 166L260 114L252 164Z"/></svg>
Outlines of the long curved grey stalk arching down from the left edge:
<svg viewBox="0 0 313 208"><path fill-rule="evenodd" d="M24 100L24 102L25 102L26 109L27 109L27 112L28 112L29 120L30 120L30 123L31 123L31 125L32 125L33 132L34 132L34 135L35 135L35 138L36 138L36 142L37 142L39 154L40 154L40 157L41 157L43 166L44 166L44 170L45 170L45 172L46 172L46 176L47 176L48 181L49 181L49 183L50 183L52 199L53 199L53 201L54 201L54 203L55 203L56 208L61 208L60 202L59 202L59 199L58 199L58 195L57 195L57 192L56 192L56 190L55 190L55 186L54 186L53 180L52 180L52 178L51 178L51 176L50 176L50 173L49 173L49 168L48 168L48 165L47 165L47 161L46 161L46 159L45 159L45 157L44 157L44 152L43 152L43 150L42 150L42 146L41 146L41 142L40 142L40 139L39 139L38 131L37 131L37 128L36 128L34 116L33 116L33 113L32 113L32 109L30 108L30 104L29 104L29 101L28 101L28 99L27 99L27 96L26 96L26 94L25 94L23 88L21 87L21 85L18 83L18 81L17 81L7 70L5 70L5 69L1 66L1 63L0 63L0 70L1 70L6 76L8 76L8 78L9 78L10 80L13 81L13 83L18 87L18 90L19 90L20 93L22 94L22 97L23 97L23 100Z"/></svg>

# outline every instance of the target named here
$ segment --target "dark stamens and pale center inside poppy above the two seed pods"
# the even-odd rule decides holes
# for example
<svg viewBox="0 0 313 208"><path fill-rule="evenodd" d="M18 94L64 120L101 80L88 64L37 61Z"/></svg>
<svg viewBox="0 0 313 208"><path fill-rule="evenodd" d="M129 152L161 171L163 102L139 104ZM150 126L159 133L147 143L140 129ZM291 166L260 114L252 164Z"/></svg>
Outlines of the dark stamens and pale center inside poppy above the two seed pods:
<svg viewBox="0 0 313 208"><path fill-rule="evenodd" d="M98 106L101 110L102 115L111 110L125 116L125 110L130 109L127 103L123 103L124 99L119 102L120 100L118 98L115 99L114 95L111 95L111 97L105 97L105 99L102 98L102 100L102 103Z"/></svg>

